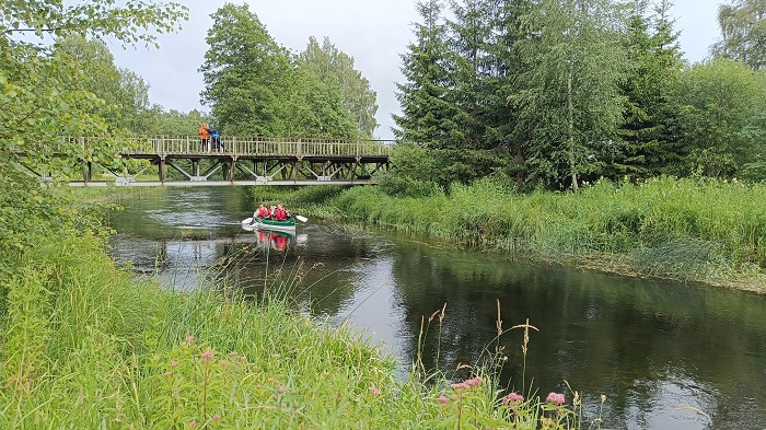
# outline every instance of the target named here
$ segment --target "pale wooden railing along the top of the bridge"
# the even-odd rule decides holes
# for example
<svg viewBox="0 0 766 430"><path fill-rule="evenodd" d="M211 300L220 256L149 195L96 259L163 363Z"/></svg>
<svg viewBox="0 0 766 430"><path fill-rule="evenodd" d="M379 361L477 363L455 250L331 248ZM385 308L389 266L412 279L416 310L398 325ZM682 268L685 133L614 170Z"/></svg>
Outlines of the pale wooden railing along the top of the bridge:
<svg viewBox="0 0 766 430"><path fill-rule="evenodd" d="M202 146L196 136L151 136L136 138L144 151L158 155L228 153L233 155L271 156L385 156L393 140L290 139L223 136L221 146L212 141Z"/></svg>

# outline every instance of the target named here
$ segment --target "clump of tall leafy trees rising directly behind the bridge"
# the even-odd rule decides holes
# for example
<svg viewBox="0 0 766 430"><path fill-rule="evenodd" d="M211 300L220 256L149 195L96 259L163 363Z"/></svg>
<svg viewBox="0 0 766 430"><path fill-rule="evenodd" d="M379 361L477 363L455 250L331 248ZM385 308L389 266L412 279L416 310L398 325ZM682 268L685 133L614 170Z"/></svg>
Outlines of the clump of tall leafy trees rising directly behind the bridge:
<svg viewBox="0 0 766 430"><path fill-rule="evenodd" d="M200 68L202 102L219 130L275 137L371 137L378 126L375 93L353 59L328 40L310 39L291 55L246 4L212 14L210 46Z"/></svg>

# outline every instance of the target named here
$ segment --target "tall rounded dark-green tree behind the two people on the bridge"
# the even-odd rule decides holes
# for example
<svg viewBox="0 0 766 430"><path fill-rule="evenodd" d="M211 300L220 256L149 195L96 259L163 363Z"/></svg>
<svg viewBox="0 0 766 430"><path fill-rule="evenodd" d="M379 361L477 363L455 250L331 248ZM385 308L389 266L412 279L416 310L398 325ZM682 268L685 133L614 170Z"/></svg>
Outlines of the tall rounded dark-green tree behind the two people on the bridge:
<svg viewBox="0 0 766 430"><path fill-rule="evenodd" d="M294 67L246 4L227 3L212 15L209 48L200 71L204 104L219 130L281 136L289 125L288 101L294 92Z"/></svg>

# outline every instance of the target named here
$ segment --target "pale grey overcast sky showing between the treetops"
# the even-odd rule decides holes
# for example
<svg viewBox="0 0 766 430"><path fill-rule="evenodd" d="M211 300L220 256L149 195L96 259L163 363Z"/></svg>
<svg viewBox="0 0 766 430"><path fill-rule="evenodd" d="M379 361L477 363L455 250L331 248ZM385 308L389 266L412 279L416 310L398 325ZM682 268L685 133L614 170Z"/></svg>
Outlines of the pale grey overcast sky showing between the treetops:
<svg viewBox="0 0 766 430"><path fill-rule="evenodd" d="M241 4L241 1L230 1ZM140 74L150 85L152 104L165 109L201 109L202 75L197 71L208 46L205 37L213 24L210 14L223 0L183 1L189 21L178 33L161 35L160 49L111 46L117 66ZM411 23L418 22L414 0L249 0L254 12L280 45L299 53L309 36L326 36L341 51L353 57L355 67L378 93L379 139L393 139L391 114L399 113L395 82L403 82L399 55L413 38ZM690 62L703 60L719 37L716 13L720 0L675 0L672 15L681 32L681 48Z"/></svg>

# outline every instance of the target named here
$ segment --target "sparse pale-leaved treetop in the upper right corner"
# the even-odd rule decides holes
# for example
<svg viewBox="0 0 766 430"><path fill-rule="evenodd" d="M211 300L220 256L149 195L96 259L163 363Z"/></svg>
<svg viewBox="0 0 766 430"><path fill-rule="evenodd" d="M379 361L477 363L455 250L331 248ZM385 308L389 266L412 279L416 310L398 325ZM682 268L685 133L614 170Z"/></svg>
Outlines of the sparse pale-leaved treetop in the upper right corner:
<svg viewBox="0 0 766 430"><path fill-rule="evenodd" d="M721 40L712 54L740 60L753 70L766 69L766 1L732 0L718 8Z"/></svg>

